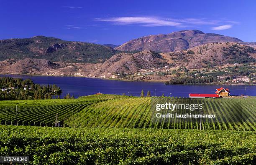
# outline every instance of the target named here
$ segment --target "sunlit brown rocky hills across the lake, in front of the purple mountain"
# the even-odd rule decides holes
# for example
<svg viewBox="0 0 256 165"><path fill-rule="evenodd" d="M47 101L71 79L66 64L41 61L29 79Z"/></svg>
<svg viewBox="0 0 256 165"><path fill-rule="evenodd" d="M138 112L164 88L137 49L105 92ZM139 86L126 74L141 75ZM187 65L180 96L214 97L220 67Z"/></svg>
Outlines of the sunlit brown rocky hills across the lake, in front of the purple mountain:
<svg viewBox="0 0 256 165"><path fill-rule="evenodd" d="M227 63L256 62L256 50L234 42L218 42L192 47L188 50L157 53L150 50L128 54L120 53L105 61L90 75L95 77L115 77L113 75L134 74L138 70L163 67L187 67L200 69L223 66ZM160 70L159 70L160 71Z"/></svg>

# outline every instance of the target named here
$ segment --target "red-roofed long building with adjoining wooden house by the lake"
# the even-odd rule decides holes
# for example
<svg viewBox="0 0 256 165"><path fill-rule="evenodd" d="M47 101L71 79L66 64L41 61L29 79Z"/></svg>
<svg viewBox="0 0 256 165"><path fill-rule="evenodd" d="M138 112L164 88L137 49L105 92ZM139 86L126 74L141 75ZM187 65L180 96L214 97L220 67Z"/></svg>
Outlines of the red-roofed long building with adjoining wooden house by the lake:
<svg viewBox="0 0 256 165"><path fill-rule="evenodd" d="M223 87L217 88L215 94L189 93L189 98L220 98L229 96L229 89Z"/></svg>

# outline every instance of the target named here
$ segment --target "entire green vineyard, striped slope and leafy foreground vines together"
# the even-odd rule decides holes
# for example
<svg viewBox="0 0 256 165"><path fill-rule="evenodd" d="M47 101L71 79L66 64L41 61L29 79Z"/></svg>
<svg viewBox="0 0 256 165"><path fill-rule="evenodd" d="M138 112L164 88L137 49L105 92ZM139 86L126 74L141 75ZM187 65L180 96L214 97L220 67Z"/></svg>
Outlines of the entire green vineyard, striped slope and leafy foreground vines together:
<svg viewBox="0 0 256 165"><path fill-rule="evenodd" d="M152 122L152 102L166 98L91 95L1 101L0 156L29 156L24 164L35 165L255 163L255 97L190 100L202 101L207 111L220 109L223 118L218 121ZM65 128L52 128L56 114ZM227 116L233 122L226 122Z"/></svg>

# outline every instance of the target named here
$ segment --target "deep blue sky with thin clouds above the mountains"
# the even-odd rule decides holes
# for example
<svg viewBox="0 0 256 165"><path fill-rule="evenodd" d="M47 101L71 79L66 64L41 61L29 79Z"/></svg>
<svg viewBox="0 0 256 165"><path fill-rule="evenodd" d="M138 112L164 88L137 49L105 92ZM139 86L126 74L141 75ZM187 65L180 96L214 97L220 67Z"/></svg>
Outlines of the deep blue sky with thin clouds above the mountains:
<svg viewBox="0 0 256 165"><path fill-rule="evenodd" d="M197 29L256 42L255 0L0 0L0 39L36 35L120 45Z"/></svg>

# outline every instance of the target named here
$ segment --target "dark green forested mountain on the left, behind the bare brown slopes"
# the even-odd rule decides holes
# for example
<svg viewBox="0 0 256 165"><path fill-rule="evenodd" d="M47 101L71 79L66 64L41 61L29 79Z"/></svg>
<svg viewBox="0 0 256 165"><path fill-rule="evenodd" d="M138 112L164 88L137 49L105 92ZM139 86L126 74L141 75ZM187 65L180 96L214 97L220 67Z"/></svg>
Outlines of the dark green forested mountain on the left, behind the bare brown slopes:
<svg viewBox="0 0 256 165"><path fill-rule="evenodd" d="M37 58L55 62L104 62L117 52L103 45L64 41L54 37L0 40L0 61Z"/></svg>

